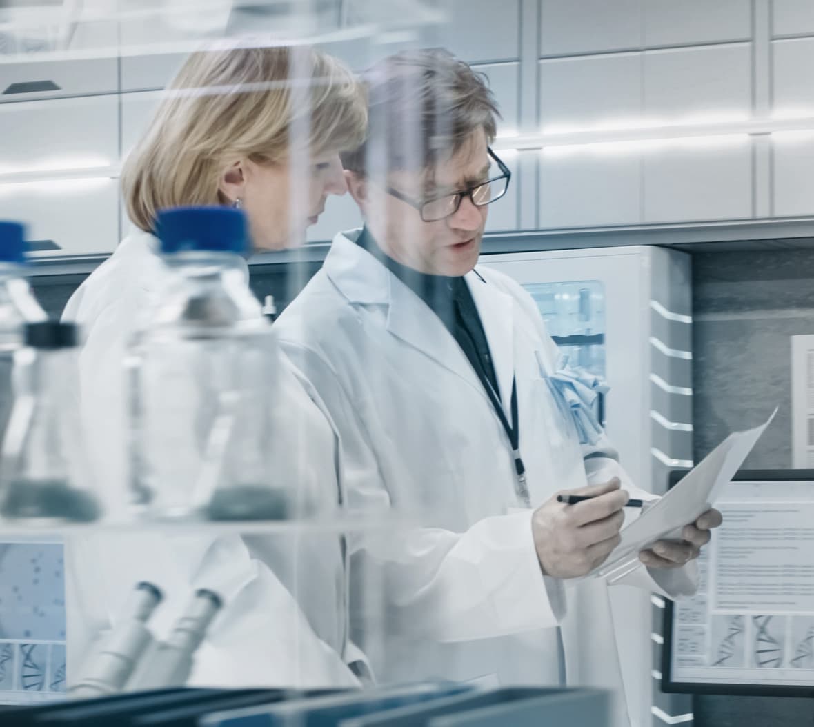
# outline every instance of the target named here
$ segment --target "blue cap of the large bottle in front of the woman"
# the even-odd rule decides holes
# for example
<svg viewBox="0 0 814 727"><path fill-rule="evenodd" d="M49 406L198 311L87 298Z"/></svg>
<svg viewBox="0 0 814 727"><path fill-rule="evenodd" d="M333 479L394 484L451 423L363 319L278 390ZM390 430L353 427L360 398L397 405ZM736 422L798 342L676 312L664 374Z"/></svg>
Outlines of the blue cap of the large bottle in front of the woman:
<svg viewBox="0 0 814 727"><path fill-rule="evenodd" d="M158 212L155 230L161 252L247 251L246 216L230 207L175 207Z"/></svg>

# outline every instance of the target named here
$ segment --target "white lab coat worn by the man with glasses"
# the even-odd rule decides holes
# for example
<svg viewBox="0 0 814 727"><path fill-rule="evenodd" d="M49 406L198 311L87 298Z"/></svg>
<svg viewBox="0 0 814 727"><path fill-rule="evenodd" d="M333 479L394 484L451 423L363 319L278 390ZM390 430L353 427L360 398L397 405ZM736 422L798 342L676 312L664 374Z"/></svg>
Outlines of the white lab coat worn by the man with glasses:
<svg viewBox="0 0 814 727"><path fill-rule="evenodd" d="M359 641L374 672L383 681L557 684L554 627L562 624L569 683L621 695L607 586L589 580L566 588L541 575L532 510L515 493L508 437L483 385L440 318L351 234L337 235L325 265L275 327L335 422L349 506L421 511L423 528L354 544L352 591L369 598L364 589L380 585L386 598L381 643ZM532 506L613 475L633 497L653 497L632 487L606 437L580 445L545 380L558 349L536 304L505 275L478 270L466 282L507 417L517 379ZM628 582L692 593L694 571L659 572L659 588L641 568ZM579 620L563 618L566 610ZM361 633L370 621L358 625ZM616 725L628 722L620 696L615 712Z"/></svg>

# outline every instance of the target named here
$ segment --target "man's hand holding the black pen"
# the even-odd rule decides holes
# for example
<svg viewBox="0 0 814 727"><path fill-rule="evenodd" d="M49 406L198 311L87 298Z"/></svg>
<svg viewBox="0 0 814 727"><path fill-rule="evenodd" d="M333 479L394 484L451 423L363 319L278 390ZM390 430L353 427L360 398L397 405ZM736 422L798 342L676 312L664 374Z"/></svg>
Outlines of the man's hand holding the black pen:
<svg viewBox="0 0 814 727"><path fill-rule="evenodd" d="M593 571L616 545L624 523L622 508L630 499L618 478L561 495L587 495L593 500L565 505L555 495L532 518L537 559L546 576L577 578Z"/></svg>

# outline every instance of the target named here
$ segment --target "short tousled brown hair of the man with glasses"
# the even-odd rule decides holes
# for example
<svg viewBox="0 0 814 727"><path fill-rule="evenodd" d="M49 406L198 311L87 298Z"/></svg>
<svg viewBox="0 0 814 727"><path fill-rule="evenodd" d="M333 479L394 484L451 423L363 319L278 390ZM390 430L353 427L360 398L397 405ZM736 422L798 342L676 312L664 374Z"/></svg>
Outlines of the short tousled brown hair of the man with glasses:
<svg viewBox="0 0 814 727"><path fill-rule="evenodd" d="M425 171L454 155L483 129L497 134L500 112L486 77L447 50L406 50L363 75L368 134L342 155L344 168L362 177Z"/></svg>

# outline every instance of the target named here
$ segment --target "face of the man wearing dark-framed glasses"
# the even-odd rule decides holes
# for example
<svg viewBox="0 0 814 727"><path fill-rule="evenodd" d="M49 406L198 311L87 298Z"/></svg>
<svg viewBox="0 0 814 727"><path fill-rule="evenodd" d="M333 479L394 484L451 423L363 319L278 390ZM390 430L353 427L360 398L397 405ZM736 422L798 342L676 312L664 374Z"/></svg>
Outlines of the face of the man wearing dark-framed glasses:
<svg viewBox="0 0 814 727"><path fill-rule="evenodd" d="M474 132L457 153L432 173L392 172L387 185L410 199L432 199L465 190L489 177L489 155L483 129ZM421 212L387 194L385 185L367 185L365 217L376 242L394 260L432 275L465 275L475 267L484 236L487 208L469 197L450 217L422 221Z"/></svg>

